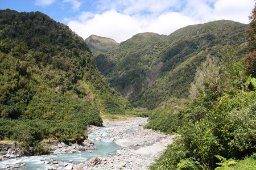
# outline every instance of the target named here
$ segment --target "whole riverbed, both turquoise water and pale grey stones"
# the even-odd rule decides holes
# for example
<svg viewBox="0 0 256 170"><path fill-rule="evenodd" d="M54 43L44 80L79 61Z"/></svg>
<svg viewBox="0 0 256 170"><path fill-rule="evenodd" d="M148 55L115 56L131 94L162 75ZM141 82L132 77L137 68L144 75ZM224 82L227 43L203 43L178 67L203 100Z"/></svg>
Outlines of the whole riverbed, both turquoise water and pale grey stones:
<svg viewBox="0 0 256 170"><path fill-rule="evenodd" d="M88 137L97 150L3 160L0 169L148 169L174 135L144 130L146 124L147 118L141 117L104 120L104 127L90 126Z"/></svg>

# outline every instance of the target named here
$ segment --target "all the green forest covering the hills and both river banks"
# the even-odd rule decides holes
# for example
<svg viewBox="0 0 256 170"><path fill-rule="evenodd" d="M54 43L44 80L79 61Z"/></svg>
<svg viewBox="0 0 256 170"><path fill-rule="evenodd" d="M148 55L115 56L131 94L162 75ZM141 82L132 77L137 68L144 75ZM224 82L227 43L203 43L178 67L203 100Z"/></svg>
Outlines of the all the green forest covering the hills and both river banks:
<svg viewBox="0 0 256 170"><path fill-rule="evenodd" d="M102 118L148 117L144 129L176 134L149 169L254 169L255 16L118 44L0 10L0 140L47 154L41 141L81 141Z"/></svg>

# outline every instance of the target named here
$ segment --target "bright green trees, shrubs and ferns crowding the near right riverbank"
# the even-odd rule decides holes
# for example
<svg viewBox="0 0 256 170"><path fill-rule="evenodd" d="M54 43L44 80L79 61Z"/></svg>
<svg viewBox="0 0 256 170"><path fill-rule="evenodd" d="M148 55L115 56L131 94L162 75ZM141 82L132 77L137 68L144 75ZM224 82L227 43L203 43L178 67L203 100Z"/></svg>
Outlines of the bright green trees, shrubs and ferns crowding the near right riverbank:
<svg viewBox="0 0 256 170"><path fill-rule="evenodd" d="M255 27L255 8L249 31ZM255 33L247 36L253 40ZM252 43L247 55L255 52ZM191 103L169 112L171 127L156 129L179 136L151 169L255 169L256 79L246 65L248 56L239 55L226 46L221 61L208 56L197 67Z"/></svg>

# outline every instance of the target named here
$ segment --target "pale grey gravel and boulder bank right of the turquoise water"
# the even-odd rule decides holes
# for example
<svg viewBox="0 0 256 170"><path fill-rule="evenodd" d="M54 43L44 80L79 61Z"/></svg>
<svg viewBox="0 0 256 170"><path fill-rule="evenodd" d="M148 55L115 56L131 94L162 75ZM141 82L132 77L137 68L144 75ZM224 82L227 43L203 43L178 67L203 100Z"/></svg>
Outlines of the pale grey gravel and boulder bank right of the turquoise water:
<svg viewBox="0 0 256 170"><path fill-rule="evenodd" d="M144 130L147 118L130 118L126 121L104 120L113 141L123 147L114 154L97 157L75 167L78 169L148 169L164 148L172 142L174 135ZM103 137L104 138L104 137Z"/></svg>

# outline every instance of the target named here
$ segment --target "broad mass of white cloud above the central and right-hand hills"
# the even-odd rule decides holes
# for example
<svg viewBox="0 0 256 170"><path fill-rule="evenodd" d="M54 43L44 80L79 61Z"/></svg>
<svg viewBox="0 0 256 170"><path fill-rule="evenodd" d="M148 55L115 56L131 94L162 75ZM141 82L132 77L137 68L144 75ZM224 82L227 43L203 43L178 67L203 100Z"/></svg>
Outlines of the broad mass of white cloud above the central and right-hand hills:
<svg viewBox="0 0 256 170"><path fill-rule="evenodd" d="M94 34L121 42L140 32L169 35L181 27L213 20L249 23L254 1L99 0L94 5L97 11L81 12L77 20L68 22L69 27L84 39Z"/></svg>

